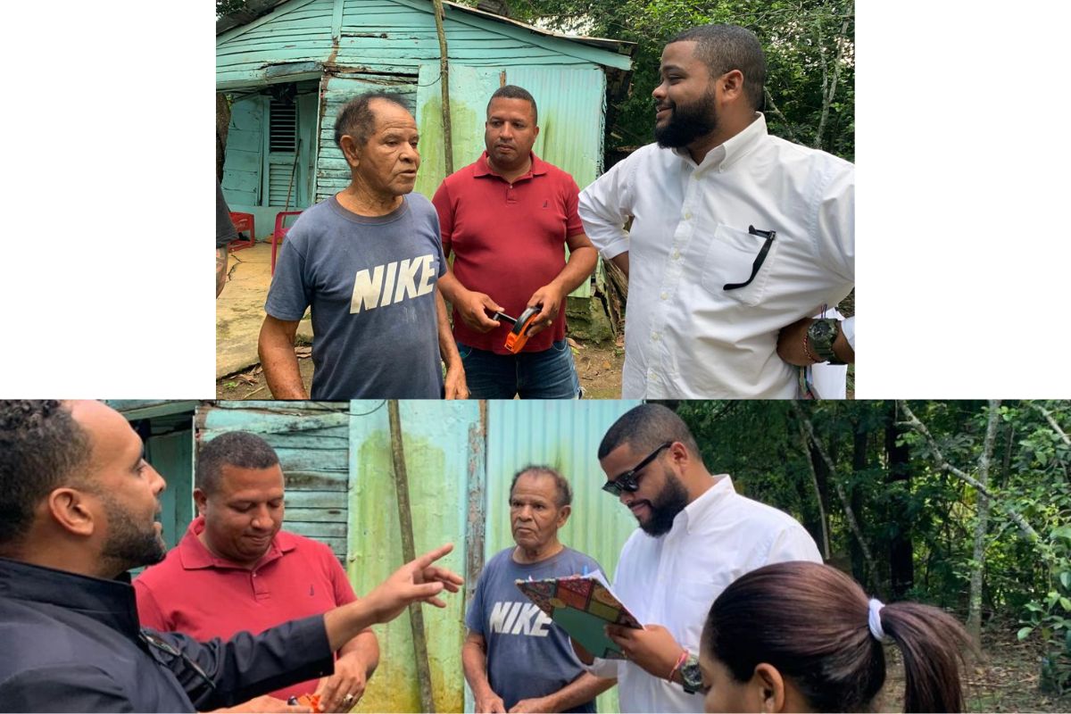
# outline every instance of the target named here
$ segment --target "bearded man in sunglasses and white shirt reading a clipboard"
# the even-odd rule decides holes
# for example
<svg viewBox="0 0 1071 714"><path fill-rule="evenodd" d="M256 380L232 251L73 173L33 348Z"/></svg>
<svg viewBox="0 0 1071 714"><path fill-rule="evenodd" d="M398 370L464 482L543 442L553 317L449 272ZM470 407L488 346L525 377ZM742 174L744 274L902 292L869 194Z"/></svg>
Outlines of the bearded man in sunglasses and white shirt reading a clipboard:
<svg viewBox="0 0 1071 714"><path fill-rule="evenodd" d="M613 589L644 629L607 627L624 660L573 648L593 674L617 678L620 711L700 712L699 635L714 598L763 565L820 563L818 547L794 518L737 495L728 475L712 476L688 425L661 405L618 419L599 461L603 490L639 523L621 549Z"/></svg>

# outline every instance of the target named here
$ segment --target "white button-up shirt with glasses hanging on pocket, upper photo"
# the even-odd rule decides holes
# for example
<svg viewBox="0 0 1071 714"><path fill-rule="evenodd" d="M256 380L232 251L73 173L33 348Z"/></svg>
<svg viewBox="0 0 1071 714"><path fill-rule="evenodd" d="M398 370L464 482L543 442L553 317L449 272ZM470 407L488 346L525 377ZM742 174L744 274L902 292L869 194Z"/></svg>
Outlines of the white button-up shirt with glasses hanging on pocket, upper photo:
<svg viewBox="0 0 1071 714"><path fill-rule="evenodd" d="M627 399L795 397L778 332L855 285L855 167L770 136L761 113L698 165L643 147L580 193L579 213L603 257L629 252ZM749 226L776 237L751 284L725 290L765 242Z"/></svg>

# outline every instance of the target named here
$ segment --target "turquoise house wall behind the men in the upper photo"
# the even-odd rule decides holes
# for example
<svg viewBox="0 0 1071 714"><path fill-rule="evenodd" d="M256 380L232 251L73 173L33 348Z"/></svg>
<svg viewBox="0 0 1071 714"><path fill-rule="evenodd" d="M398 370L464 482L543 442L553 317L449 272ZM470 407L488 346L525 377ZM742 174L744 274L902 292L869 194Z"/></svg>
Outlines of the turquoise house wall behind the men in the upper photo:
<svg viewBox="0 0 1071 714"><path fill-rule="evenodd" d="M606 78L602 66L628 69L630 60L456 7L448 6L444 28L451 62L454 168L479 156L487 97L509 82L537 95L542 127L537 153L572 173L582 187L594 180L601 171L603 147ZM410 104L422 134L423 166L416 189L431 198L446 176L439 45L431 2L292 0L216 39L221 90L313 76L321 78L321 86L312 200L323 200L348 184L348 166L334 143L334 118L342 104L368 89L399 92ZM252 143L256 127L252 121L236 118L231 131L236 130L238 157L231 173L228 138L224 191L228 200L250 207L256 204L246 202L252 194L240 192L252 183L242 172L256 158L243 152L252 151L245 145ZM247 137L243 131L250 132ZM261 196L260 203L266 202ZM271 217L261 221L270 224ZM587 286L574 294L586 297Z"/></svg>

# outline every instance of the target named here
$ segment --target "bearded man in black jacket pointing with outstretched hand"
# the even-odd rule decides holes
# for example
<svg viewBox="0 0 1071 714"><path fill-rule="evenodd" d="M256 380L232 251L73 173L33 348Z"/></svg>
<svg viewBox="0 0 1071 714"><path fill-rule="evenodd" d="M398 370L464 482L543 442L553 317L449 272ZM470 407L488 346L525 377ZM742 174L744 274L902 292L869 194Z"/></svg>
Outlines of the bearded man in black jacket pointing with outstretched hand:
<svg viewBox="0 0 1071 714"><path fill-rule="evenodd" d="M330 674L331 653L462 579L442 546L366 597L252 636L197 642L138 625L125 572L164 556L164 480L96 401L0 401L0 711L193 712ZM259 698L251 710L282 702ZM285 711L300 711L285 708Z"/></svg>

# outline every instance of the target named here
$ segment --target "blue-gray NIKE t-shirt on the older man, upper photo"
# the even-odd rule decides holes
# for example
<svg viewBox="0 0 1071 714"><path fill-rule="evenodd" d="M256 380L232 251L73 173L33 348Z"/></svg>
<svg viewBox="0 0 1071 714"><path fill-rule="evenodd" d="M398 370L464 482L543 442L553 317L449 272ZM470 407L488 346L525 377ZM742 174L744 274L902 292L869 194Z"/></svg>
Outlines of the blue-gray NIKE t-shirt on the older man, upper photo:
<svg viewBox="0 0 1071 714"><path fill-rule="evenodd" d="M439 217L420 194L384 216L331 198L286 234L265 309L313 310L313 399L438 399L435 285L446 273Z"/></svg>

